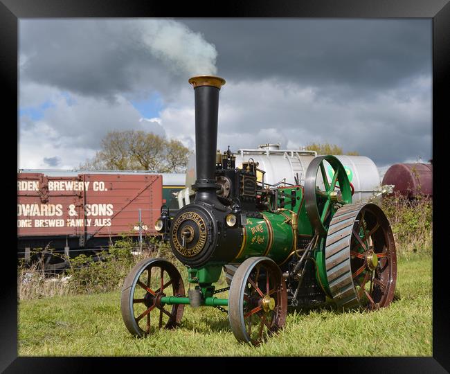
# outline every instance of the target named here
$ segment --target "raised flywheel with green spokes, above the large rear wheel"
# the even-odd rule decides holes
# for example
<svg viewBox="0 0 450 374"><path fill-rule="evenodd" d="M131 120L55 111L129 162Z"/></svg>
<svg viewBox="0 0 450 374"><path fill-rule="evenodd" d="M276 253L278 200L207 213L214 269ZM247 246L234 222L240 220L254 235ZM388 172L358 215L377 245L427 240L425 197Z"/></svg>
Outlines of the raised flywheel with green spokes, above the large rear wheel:
<svg viewBox="0 0 450 374"><path fill-rule="evenodd" d="M334 170L331 181L326 176L324 161L327 161ZM325 190L316 188L318 175L321 175ZM326 235L330 219L336 213L330 196L336 187L341 193L343 204L350 204L352 202L350 181L341 161L334 156L313 159L309 163L305 176L305 208L313 228L321 235Z"/></svg>

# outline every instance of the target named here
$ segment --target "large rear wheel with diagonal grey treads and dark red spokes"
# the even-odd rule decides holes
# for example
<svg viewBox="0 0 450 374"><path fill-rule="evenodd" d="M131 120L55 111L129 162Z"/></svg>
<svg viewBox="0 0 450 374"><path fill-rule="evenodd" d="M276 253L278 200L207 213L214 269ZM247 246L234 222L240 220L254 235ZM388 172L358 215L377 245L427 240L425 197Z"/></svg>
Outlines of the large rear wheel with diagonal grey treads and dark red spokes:
<svg viewBox="0 0 450 374"><path fill-rule="evenodd" d="M347 204L336 211L327 232L325 268L330 293L339 307L376 310L393 301L395 241L379 206Z"/></svg>

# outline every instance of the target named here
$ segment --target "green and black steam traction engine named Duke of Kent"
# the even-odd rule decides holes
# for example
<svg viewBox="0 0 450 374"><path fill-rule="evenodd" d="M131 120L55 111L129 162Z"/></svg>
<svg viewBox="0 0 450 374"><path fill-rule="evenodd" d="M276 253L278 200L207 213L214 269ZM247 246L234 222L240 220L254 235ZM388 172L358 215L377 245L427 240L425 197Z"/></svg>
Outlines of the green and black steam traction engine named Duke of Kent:
<svg viewBox="0 0 450 374"><path fill-rule="evenodd" d="M352 204L341 162L314 158L304 186L298 176L295 185L264 182L266 171L251 158L236 168L229 147L216 151L225 80L201 75L189 83L195 92L195 200L174 217L162 206L155 228L186 265L190 287L186 294L168 260L138 262L120 301L127 330L145 337L178 326L185 305L210 306L228 314L238 341L258 345L282 328L288 306L389 305L397 278L390 224L376 204ZM228 287L216 289L222 271Z"/></svg>

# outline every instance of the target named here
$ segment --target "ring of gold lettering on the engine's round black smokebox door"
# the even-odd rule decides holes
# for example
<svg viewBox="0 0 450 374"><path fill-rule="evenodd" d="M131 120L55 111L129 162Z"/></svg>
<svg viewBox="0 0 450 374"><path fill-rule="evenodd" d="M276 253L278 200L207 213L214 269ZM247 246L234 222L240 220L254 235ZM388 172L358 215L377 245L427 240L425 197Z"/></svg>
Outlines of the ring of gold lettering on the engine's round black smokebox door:
<svg viewBox="0 0 450 374"><path fill-rule="evenodd" d="M197 230L193 230L193 238L186 240L184 247L181 245L179 237L181 237L181 233L179 233L180 225L185 222L190 221L191 226L197 226ZM177 220L174 222L172 228L172 243L175 249L185 257L195 256L201 249L204 249L206 243L206 224L201 218L200 215L194 212L186 212L181 214ZM182 239L181 239L182 241Z"/></svg>

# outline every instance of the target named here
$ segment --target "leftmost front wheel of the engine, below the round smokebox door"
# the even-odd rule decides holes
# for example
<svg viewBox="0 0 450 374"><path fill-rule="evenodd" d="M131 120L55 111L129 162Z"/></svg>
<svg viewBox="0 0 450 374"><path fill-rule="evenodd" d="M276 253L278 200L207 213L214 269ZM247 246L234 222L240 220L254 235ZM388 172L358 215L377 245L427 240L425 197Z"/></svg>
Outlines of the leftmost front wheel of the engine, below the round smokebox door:
<svg viewBox="0 0 450 374"><path fill-rule="evenodd" d="M146 337L179 325L184 305L163 305L162 296L185 296L177 268L160 258L138 262L125 278L120 299L123 321L132 335Z"/></svg>

